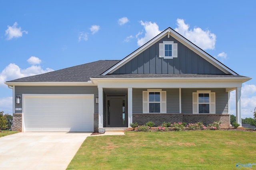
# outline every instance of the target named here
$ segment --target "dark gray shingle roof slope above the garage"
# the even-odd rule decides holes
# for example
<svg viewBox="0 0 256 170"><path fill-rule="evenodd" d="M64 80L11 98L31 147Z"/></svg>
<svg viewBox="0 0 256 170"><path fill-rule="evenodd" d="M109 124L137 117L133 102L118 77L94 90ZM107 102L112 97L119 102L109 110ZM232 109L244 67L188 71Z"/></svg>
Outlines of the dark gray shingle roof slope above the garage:
<svg viewBox="0 0 256 170"><path fill-rule="evenodd" d="M7 82L88 82L90 77L99 76L119 61L100 60Z"/></svg>

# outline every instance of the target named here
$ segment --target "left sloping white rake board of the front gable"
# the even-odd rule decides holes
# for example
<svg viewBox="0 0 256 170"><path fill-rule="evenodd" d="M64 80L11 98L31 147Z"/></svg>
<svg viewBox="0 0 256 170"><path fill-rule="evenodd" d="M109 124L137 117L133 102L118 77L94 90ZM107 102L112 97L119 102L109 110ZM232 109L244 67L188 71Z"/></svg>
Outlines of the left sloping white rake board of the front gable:
<svg viewBox="0 0 256 170"><path fill-rule="evenodd" d="M142 45L140 48L138 48L136 51L134 51L133 53L131 53L130 55L128 55L127 57L125 57L124 59L122 59L119 63L117 63L116 65L114 65L113 67L109 68L108 70L106 70L104 73L102 73L101 75L106 75L106 74L111 74L112 72L114 72L115 70L117 70L118 68L120 68L121 66L123 66L124 64L128 63L129 61L131 61L134 57L136 57L137 55L139 55L140 53L142 53L144 50L146 50L148 47L150 47L152 44L156 43L157 41L159 41L160 39L162 39L162 37L166 36L169 32L169 28L166 29L165 31L163 31L162 33L160 33L159 35L157 35L155 38L153 38L152 40L148 41L148 43L146 43L145 45Z"/></svg>

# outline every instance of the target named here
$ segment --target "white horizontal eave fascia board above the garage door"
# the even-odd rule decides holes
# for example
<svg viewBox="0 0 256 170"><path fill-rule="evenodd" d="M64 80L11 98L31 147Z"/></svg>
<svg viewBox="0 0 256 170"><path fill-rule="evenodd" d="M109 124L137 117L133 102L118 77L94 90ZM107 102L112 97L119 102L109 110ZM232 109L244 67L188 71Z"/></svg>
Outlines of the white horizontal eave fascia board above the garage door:
<svg viewBox="0 0 256 170"><path fill-rule="evenodd" d="M9 86L96 86L92 82L4 82Z"/></svg>

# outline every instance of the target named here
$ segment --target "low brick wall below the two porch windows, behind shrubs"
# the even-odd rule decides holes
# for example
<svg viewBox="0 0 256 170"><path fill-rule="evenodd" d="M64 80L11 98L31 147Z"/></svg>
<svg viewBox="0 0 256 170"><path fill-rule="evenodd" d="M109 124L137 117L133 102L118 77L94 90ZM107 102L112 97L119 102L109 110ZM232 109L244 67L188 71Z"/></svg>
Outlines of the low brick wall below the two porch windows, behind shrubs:
<svg viewBox="0 0 256 170"><path fill-rule="evenodd" d="M221 121L222 127L230 126L229 114L182 114L182 113L133 113L132 122L144 125L148 121L153 121L155 125L161 125L165 122L203 122L204 125Z"/></svg>

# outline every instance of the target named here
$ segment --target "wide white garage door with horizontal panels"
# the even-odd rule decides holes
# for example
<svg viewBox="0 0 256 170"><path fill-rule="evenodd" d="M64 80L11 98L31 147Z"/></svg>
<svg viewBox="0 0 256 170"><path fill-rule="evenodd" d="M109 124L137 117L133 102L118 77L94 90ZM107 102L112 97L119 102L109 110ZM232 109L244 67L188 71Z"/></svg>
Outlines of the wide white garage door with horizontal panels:
<svg viewBox="0 0 256 170"><path fill-rule="evenodd" d="M94 95L24 94L24 131L93 131Z"/></svg>

